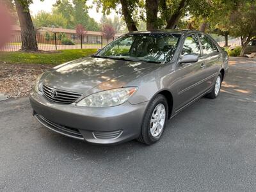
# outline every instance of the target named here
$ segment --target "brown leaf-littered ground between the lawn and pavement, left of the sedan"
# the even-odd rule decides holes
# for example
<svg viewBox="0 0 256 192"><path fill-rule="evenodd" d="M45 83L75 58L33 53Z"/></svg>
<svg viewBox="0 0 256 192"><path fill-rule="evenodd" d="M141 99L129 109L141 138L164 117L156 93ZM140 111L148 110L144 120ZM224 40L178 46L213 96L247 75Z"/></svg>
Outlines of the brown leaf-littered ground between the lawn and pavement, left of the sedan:
<svg viewBox="0 0 256 192"><path fill-rule="evenodd" d="M52 67L53 65L1 64L0 93L5 93L8 98L27 96L36 77Z"/></svg>

